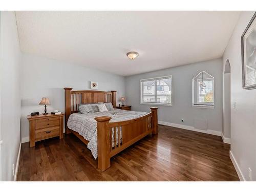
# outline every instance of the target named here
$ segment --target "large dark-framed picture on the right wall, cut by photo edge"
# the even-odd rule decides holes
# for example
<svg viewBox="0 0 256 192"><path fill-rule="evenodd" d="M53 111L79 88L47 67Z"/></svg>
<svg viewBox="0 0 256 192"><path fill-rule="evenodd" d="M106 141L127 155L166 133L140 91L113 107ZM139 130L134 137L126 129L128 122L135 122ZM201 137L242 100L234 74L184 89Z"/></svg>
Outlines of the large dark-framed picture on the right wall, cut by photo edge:
<svg viewBox="0 0 256 192"><path fill-rule="evenodd" d="M241 36L243 88L256 89L256 12Z"/></svg>

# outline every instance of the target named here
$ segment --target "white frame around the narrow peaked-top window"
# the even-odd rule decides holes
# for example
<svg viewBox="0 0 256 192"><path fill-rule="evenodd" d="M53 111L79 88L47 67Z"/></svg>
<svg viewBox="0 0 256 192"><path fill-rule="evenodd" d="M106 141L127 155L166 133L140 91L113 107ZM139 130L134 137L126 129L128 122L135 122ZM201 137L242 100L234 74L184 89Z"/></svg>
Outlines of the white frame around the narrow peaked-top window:
<svg viewBox="0 0 256 192"><path fill-rule="evenodd" d="M208 76L210 76L211 78L203 78L203 80L207 81L212 79L212 100L213 102L198 102L198 98L199 98L199 87L198 87L198 82L199 80L202 79L196 79L196 87L195 87L195 78L200 74L200 73L206 73ZM193 108L206 108L206 109L214 109L215 107L215 83L214 83L214 77L211 76L209 73L205 72L205 71L201 71L199 74L197 74L192 81L192 106Z"/></svg>

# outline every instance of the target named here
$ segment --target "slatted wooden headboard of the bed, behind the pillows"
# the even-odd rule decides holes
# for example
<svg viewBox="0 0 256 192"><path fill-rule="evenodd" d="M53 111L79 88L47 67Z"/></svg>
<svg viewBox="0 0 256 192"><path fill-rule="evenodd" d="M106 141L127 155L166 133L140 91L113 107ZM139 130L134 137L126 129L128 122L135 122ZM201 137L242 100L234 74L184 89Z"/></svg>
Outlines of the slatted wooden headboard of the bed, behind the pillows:
<svg viewBox="0 0 256 192"><path fill-rule="evenodd" d="M78 105L81 103L97 103L97 102L111 102L116 107L116 91L94 91L82 90L71 91L72 88L65 89L65 122L66 133L69 133L67 122L72 113L78 112Z"/></svg>

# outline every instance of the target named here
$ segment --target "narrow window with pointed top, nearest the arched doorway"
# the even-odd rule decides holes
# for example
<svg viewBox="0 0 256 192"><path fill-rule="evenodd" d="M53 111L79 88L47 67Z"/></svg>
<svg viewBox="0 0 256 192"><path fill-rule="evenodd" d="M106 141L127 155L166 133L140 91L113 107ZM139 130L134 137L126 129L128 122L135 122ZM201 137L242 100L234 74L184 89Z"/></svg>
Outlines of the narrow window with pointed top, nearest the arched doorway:
<svg viewBox="0 0 256 192"><path fill-rule="evenodd" d="M214 108L214 77L205 71L193 79L193 106Z"/></svg>

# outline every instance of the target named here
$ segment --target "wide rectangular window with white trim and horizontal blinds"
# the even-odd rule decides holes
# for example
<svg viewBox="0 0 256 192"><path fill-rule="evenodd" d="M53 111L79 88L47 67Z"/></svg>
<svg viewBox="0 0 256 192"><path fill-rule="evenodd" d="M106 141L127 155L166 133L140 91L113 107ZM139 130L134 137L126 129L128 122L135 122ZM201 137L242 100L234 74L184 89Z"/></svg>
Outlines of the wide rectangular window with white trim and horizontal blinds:
<svg viewBox="0 0 256 192"><path fill-rule="evenodd" d="M141 104L172 105L172 76L142 79L140 83Z"/></svg>

